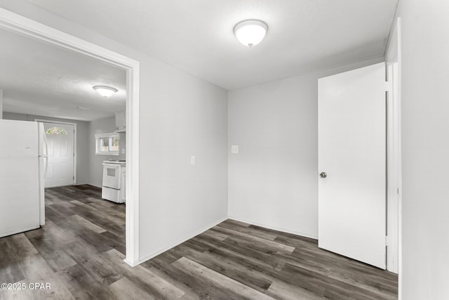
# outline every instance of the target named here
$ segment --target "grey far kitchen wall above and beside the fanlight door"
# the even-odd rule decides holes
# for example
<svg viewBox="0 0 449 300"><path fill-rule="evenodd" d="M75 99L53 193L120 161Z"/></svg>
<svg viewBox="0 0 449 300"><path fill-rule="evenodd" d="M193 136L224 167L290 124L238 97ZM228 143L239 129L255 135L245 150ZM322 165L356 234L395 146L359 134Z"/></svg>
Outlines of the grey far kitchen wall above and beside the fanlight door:
<svg viewBox="0 0 449 300"><path fill-rule="evenodd" d="M4 119L15 119L20 121L34 121L34 119L46 119L51 121L76 123L76 184L86 184L89 178L89 156L88 156L88 122L72 119L58 119L35 115L16 114L4 112Z"/></svg>

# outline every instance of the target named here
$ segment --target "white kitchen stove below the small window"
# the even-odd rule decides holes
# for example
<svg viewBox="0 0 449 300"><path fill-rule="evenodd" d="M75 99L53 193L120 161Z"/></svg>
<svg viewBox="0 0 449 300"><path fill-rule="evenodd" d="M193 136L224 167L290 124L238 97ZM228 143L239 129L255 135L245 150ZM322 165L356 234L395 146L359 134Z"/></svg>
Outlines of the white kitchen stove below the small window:
<svg viewBox="0 0 449 300"><path fill-rule="evenodd" d="M101 197L116 203L126 202L126 161L103 161Z"/></svg>

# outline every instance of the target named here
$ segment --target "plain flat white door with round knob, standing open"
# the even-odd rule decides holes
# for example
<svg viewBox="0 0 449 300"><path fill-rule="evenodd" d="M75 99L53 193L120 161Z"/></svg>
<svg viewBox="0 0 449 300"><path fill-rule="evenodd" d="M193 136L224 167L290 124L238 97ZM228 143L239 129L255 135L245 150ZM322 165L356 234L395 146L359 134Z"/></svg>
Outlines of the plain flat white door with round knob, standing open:
<svg viewBox="0 0 449 300"><path fill-rule="evenodd" d="M383 269L384 81L384 63L318 81L319 247Z"/></svg>

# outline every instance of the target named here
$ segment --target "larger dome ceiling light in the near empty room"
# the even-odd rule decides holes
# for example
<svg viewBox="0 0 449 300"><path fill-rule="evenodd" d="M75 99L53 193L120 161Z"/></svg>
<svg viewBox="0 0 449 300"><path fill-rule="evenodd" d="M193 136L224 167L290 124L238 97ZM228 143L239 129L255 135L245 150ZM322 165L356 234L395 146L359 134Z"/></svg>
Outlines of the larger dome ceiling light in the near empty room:
<svg viewBox="0 0 449 300"><path fill-rule="evenodd" d="M261 20L244 20L234 27L234 34L241 44L252 47L264 39L267 30L268 25Z"/></svg>

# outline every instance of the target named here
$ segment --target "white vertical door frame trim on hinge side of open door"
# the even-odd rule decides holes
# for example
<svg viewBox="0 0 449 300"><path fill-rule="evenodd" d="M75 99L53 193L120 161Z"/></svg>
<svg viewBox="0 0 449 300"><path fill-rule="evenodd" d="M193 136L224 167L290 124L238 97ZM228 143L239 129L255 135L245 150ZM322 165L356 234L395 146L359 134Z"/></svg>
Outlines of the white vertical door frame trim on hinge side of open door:
<svg viewBox="0 0 449 300"><path fill-rule="evenodd" d="M387 270L399 272L401 240L401 22L391 27L385 63L391 89L388 99Z"/></svg>

